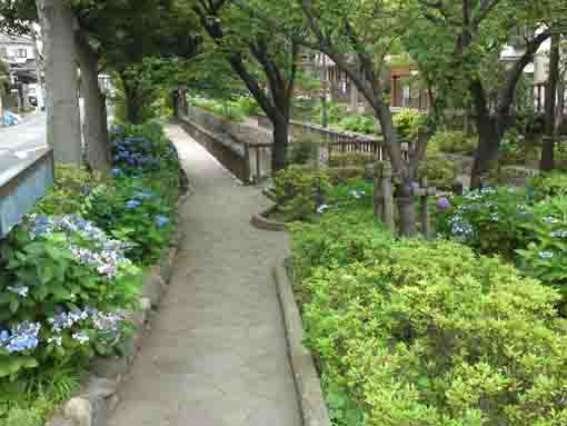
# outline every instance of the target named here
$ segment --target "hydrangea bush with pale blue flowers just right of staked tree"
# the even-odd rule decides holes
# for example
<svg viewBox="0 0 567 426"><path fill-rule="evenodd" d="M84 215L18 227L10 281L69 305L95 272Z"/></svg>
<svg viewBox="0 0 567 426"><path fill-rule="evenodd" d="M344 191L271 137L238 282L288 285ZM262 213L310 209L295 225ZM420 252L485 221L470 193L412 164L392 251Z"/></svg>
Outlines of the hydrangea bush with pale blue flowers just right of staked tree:
<svg viewBox="0 0 567 426"><path fill-rule="evenodd" d="M480 254L513 259L528 240L523 222L529 220L529 199L525 191L486 188L455 197L451 206L437 215L440 234L456 238Z"/></svg>

